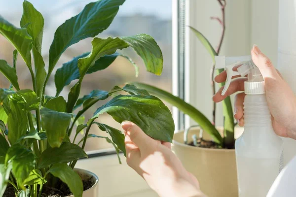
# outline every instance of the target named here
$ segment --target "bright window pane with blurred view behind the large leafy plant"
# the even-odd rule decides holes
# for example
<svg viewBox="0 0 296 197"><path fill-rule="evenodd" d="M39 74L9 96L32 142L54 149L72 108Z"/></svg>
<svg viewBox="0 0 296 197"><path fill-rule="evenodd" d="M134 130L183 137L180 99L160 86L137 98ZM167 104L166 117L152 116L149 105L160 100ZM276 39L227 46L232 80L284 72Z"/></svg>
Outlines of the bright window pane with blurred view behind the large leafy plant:
<svg viewBox="0 0 296 197"><path fill-rule="evenodd" d="M1 15L7 19L10 23L19 27L19 21L22 16L23 0L13 1L0 1ZM93 0L94 1L94 0ZM42 45L42 56L44 58L46 68L48 64L48 51L52 42L55 30L65 22L65 20L79 13L83 7L91 2L90 0L50 0L40 1L31 0L34 6L40 11L44 17L44 36ZM157 6L156 6L157 5ZM163 9L165 7L165 9ZM98 71L87 75L84 78L80 97L90 93L94 89L110 90L115 85L122 85L128 81L141 81L151 85L160 87L166 91L172 92L172 27L171 27L171 10L172 0L126 0L126 2L120 6L119 12L115 17L113 23L108 30L99 34L99 37L108 36L125 36L134 35L139 33L147 33L154 37L158 45L160 46L163 59L164 69L161 76L148 73L140 57L132 50L126 49L119 51L123 55L129 56L140 69L139 76L135 77L135 69L128 60L122 57L118 57L111 66L107 69ZM91 50L92 38L87 38L74 44L63 54L59 60L55 70L72 60L75 56L81 55ZM0 36L1 49L0 59L5 59L10 65L12 65L12 52L14 48L10 43ZM17 62L17 73L19 76L19 84L21 89L32 88L31 75L29 74L27 66L23 63L21 58ZM21 74L24 73L24 74ZM53 72L55 73L55 71ZM61 96L66 100L70 88L76 81L65 87ZM9 83L0 77L0 87L8 87ZM55 95L56 88L54 84L54 75L48 82L46 88L46 94ZM101 106L105 101L98 102L85 114L85 122L92 116L97 107ZM169 106L170 107L170 106ZM171 107L170 107L171 108ZM114 128L120 129L120 124L115 122L108 114L101 115L98 122L106 123ZM100 131L96 127L92 127L91 133L98 135L107 135L105 132ZM82 135L79 135L77 140L80 140ZM104 139L90 138L88 139L85 147L86 151L98 150L112 147Z"/></svg>

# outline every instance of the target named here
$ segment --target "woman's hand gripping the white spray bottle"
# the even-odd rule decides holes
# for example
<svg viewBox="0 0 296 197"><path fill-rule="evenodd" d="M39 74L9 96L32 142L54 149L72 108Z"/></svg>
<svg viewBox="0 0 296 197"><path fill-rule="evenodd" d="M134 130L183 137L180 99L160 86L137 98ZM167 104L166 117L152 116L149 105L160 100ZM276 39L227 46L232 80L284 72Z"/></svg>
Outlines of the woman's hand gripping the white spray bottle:
<svg viewBox="0 0 296 197"><path fill-rule="evenodd" d="M272 115L272 125L274 131L283 137L296 139L296 97L283 80L280 73L272 65L271 61L254 45L251 50L252 60L258 66L265 81L265 94L270 113ZM237 67L235 68L237 69ZM226 80L226 72L223 71L215 77L218 83ZM220 102L231 94L244 91L244 82L247 78L235 79L231 82L226 94L221 95L222 88L214 95L213 100ZM234 101L234 118L240 126L244 125L243 103L244 93L239 93Z"/></svg>

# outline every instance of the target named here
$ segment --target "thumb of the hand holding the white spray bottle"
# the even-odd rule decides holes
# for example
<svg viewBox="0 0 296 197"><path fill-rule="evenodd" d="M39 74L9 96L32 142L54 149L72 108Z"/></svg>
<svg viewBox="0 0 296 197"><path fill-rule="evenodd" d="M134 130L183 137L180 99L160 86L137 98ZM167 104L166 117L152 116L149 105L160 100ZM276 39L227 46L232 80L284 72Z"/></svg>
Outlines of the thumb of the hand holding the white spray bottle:
<svg viewBox="0 0 296 197"><path fill-rule="evenodd" d="M270 59L260 51L256 44L253 45L251 55L254 64L259 68L264 80L265 78L276 79L280 77Z"/></svg>

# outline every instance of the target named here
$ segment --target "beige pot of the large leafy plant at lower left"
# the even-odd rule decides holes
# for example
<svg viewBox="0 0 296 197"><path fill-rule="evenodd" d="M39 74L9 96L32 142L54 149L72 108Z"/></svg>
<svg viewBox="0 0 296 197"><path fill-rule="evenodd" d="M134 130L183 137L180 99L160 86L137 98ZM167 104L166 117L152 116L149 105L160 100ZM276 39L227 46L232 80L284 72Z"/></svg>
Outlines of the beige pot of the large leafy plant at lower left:
<svg viewBox="0 0 296 197"><path fill-rule="evenodd" d="M85 169L75 168L74 171L76 171L79 174L79 176L81 177L82 180L92 178L95 183L91 188L83 191L82 197L98 197L99 196L99 178L98 178L98 176L90 171L85 170ZM74 197L74 195L71 195L69 197Z"/></svg>

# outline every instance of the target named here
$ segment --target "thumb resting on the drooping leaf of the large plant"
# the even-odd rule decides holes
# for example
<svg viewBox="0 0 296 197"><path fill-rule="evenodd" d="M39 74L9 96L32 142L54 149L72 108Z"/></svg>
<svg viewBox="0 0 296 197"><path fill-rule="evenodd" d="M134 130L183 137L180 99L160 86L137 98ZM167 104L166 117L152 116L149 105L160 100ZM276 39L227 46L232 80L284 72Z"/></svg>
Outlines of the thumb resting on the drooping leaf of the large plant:
<svg viewBox="0 0 296 197"><path fill-rule="evenodd" d="M124 121L121 123L122 129L126 131L126 135L130 137L130 140L139 147L140 151L149 150L149 147L155 140L149 137L140 127L132 122Z"/></svg>

